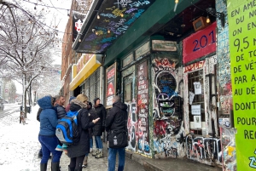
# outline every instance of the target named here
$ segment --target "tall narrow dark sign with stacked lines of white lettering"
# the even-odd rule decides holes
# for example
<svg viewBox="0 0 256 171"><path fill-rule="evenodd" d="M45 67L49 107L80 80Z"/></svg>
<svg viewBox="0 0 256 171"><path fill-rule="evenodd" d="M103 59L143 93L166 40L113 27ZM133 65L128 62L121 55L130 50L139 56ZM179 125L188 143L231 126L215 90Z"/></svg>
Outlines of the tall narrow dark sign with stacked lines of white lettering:
<svg viewBox="0 0 256 171"><path fill-rule="evenodd" d="M138 107L138 152L149 155L148 131L148 64L137 66L137 107Z"/></svg>

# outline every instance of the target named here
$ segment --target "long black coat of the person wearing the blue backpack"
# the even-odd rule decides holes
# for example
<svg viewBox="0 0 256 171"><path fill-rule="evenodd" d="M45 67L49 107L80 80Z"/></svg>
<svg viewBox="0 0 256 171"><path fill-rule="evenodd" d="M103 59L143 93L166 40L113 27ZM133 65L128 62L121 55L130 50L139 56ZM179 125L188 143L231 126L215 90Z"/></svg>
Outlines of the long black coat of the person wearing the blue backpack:
<svg viewBox="0 0 256 171"><path fill-rule="evenodd" d="M79 111L80 105L71 104L70 111ZM89 128L92 128L95 124L90 121L89 112L86 108L79 111L78 115L78 128L80 134L80 140L78 145L69 145L67 147L68 157L80 157L90 152L90 136Z"/></svg>

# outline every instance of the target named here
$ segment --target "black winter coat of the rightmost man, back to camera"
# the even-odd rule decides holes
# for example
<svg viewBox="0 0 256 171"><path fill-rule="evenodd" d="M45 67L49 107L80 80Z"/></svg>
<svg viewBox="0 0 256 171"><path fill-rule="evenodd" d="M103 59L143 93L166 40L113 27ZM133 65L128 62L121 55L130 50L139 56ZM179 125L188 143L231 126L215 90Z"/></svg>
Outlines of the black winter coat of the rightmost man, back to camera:
<svg viewBox="0 0 256 171"><path fill-rule="evenodd" d="M106 117L106 131L108 132L110 130L120 129L125 130L125 118L127 118L127 105L120 101L113 103L113 107Z"/></svg>

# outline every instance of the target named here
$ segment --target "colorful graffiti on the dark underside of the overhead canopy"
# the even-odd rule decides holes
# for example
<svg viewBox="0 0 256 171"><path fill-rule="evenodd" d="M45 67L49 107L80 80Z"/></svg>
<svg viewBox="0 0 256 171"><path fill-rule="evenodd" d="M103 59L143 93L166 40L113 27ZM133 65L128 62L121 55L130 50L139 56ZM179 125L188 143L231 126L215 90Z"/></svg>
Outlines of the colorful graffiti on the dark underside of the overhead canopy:
<svg viewBox="0 0 256 171"><path fill-rule="evenodd" d="M102 53L124 34L154 1L104 1L98 11L99 17L88 29L81 47L91 54Z"/></svg>

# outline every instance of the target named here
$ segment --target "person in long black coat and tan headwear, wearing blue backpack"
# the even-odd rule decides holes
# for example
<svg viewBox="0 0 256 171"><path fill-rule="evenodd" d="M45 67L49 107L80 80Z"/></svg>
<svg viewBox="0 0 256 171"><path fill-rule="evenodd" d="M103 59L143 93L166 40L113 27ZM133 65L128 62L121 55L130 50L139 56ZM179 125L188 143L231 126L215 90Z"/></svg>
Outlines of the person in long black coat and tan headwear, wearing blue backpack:
<svg viewBox="0 0 256 171"><path fill-rule="evenodd" d="M70 111L79 111L78 128L80 140L77 145L68 145L67 156L70 157L69 171L81 171L85 155L90 152L89 128L95 126L99 118L90 121L87 110L87 96L79 94L76 99L71 100Z"/></svg>

